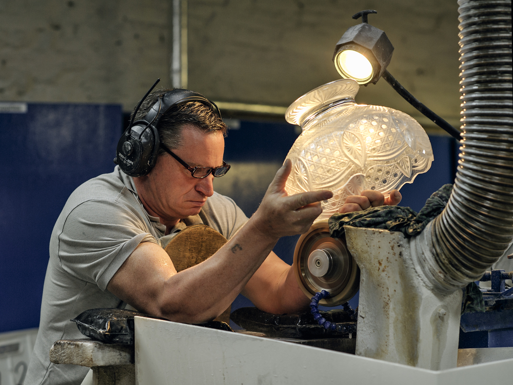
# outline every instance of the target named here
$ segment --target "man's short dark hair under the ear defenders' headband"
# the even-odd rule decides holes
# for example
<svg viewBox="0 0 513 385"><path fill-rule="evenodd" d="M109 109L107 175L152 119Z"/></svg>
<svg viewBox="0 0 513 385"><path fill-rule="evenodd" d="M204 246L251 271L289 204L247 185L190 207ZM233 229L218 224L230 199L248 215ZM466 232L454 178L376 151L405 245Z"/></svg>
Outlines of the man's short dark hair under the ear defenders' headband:
<svg viewBox="0 0 513 385"><path fill-rule="evenodd" d="M172 91L172 89L161 89L150 93L137 111L135 121L144 118L150 108L159 100L159 97L169 91ZM226 124L211 107L201 102L187 102L172 106L162 115L156 127L159 131L161 143L169 149L180 147L182 144L182 128L185 125L193 126L204 133L221 132L225 137L227 133ZM163 153L165 151L162 148L159 149L158 156Z"/></svg>

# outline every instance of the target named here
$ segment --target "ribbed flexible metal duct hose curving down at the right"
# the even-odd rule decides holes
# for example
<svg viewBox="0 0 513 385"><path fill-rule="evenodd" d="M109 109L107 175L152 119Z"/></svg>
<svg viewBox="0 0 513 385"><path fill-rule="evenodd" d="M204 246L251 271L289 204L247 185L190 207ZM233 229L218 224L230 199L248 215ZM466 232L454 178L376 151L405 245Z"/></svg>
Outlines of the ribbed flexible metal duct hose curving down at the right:
<svg viewBox="0 0 513 385"><path fill-rule="evenodd" d="M430 226L424 271L441 290L479 280L513 238L511 0L459 0L461 155Z"/></svg>

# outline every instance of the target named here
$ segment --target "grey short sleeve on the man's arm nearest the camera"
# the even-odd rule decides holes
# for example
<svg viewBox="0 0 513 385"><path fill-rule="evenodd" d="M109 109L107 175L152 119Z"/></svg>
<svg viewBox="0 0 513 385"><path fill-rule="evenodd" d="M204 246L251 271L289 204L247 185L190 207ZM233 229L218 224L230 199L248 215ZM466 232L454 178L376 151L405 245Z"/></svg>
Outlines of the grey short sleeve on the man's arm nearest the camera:
<svg viewBox="0 0 513 385"><path fill-rule="evenodd" d="M90 200L66 217L58 237L58 256L66 272L106 290L141 242L159 243L139 213L120 202Z"/></svg>

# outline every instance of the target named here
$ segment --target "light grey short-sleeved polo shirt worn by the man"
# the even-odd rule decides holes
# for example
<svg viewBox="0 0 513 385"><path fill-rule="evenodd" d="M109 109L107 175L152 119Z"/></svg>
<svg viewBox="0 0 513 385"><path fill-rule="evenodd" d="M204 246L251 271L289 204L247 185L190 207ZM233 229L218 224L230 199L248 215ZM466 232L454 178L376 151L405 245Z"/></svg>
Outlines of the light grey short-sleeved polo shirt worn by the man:
<svg viewBox="0 0 513 385"><path fill-rule="evenodd" d="M204 223L230 239L248 218L228 197L214 192L199 216L185 224ZM60 339L84 338L70 319L89 309L125 307L106 288L117 269L141 242L165 247L166 226L148 215L131 177L116 166L79 186L69 197L53 228L43 289L40 329L26 385L80 384L88 368L53 364L49 351Z"/></svg>

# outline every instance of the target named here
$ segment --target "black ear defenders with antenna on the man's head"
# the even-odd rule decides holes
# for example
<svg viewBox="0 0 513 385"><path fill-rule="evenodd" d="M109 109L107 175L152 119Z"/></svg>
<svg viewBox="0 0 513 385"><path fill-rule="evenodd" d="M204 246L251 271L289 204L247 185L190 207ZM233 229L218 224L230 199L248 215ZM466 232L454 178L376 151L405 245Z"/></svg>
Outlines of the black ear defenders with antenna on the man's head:
<svg viewBox="0 0 513 385"><path fill-rule="evenodd" d="M186 89L174 89L161 95L143 118L133 122L141 104L159 81L160 79L139 102L132 115L130 125L117 143L114 163L118 164L122 171L130 177L145 176L155 166L160 146L157 125L162 115L171 107L187 102L200 102L210 107L221 119L219 108L202 94Z"/></svg>

